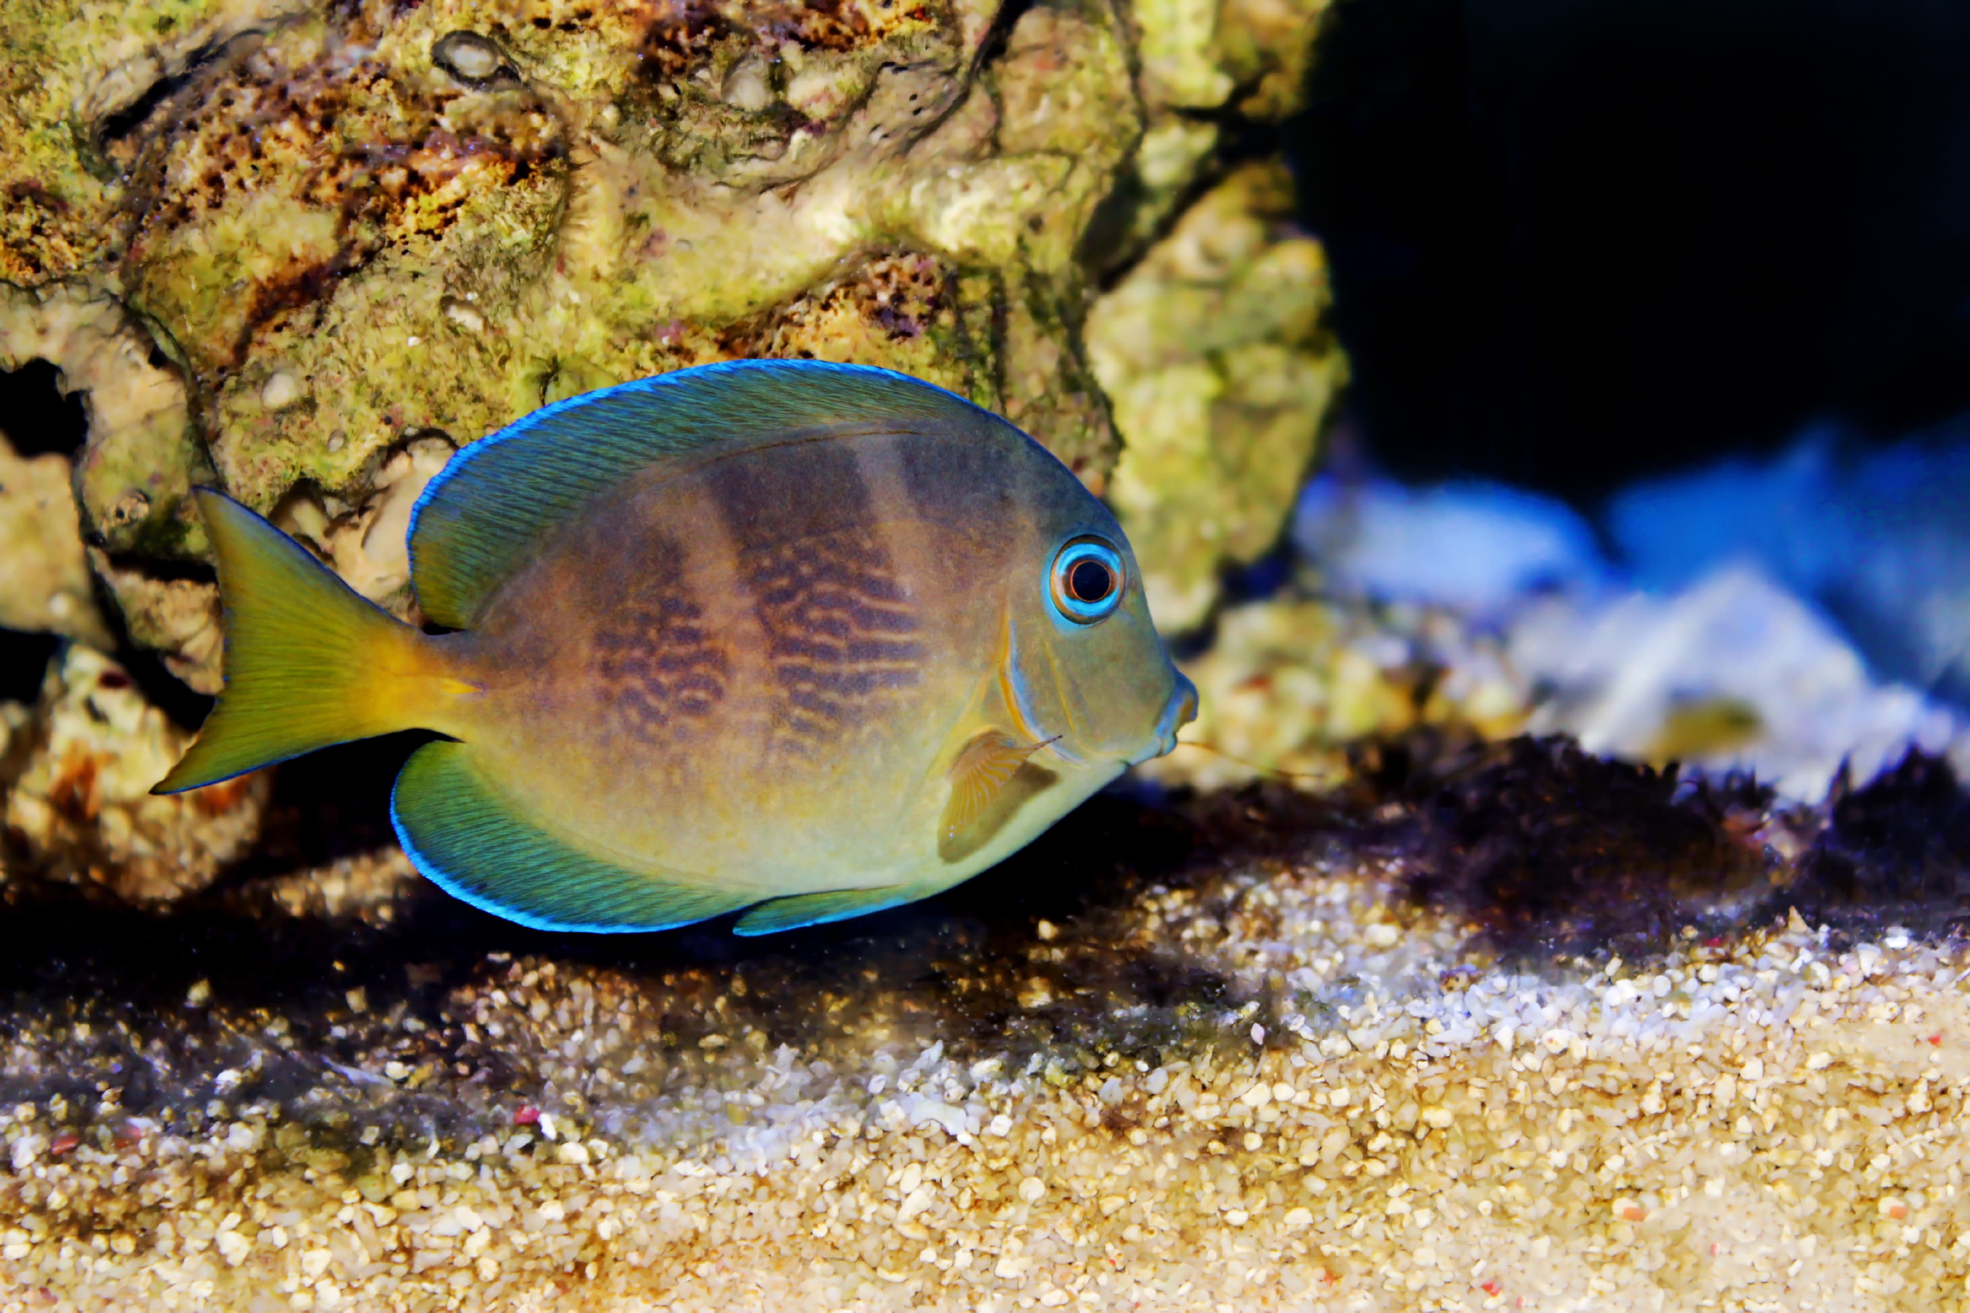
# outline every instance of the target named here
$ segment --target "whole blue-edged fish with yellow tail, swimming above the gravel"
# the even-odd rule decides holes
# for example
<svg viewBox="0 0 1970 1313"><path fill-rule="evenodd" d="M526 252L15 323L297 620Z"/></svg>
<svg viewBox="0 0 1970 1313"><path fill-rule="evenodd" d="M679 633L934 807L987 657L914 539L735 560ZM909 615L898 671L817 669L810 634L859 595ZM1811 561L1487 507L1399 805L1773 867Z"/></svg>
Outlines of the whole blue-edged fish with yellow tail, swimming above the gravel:
<svg viewBox="0 0 1970 1313"><path fill-rule="evenodd" d="M883 370L684 370L467 447L412 522L449 634L323 606L339 585L299 547L205 508L229 687L160 787L437 730L394 791L406 850L532 925L751 907L737 929L764 933L924 898L1196 705L1109 512L1013 425ZM258 640L282 608L345 616L339 656Z"/></svg>

